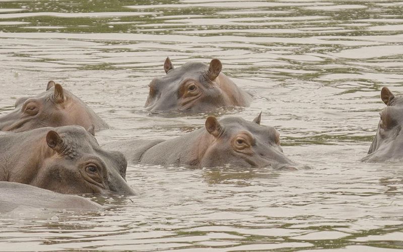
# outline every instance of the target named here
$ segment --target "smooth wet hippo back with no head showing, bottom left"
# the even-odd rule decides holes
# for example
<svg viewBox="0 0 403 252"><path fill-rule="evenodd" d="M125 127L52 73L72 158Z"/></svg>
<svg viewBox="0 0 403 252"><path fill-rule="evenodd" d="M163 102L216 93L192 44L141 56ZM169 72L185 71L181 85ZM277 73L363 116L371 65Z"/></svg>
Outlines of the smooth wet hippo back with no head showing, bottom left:
<svg viewBox="0 0 403 252"><path fill-rule="evenodd" d="M101 205L86 198L54 193L29 184L0 181L0 214L23 209L97 211Z"/></svg>

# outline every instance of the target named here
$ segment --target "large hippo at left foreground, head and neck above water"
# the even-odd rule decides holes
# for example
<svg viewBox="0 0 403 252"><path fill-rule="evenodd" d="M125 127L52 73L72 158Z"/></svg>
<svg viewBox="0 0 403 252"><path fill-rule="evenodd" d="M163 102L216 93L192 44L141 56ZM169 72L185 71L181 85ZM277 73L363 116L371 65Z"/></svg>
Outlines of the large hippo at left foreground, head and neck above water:
<svg viewBox="0 0 403 252"><path fill-rule="evenodd" d="M125 181L127 160L105 151L78 125L0 135L0 181L63 194L134 195Z"/></svg>

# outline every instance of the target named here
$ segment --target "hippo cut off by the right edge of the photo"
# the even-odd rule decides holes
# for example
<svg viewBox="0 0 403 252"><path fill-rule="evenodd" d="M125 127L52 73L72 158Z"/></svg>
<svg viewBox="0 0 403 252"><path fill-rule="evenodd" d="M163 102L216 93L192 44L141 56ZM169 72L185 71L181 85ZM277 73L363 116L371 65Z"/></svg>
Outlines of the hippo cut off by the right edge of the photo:
<svg viewBox="0 0 403 252"><path fill-rule="evenodd" d="M379 113L381 118L378 130L368 155L362 159L366 162L399 161L403 159L403 98L395 97L386 87L382 88L381 99L386 107Z"/></svg>

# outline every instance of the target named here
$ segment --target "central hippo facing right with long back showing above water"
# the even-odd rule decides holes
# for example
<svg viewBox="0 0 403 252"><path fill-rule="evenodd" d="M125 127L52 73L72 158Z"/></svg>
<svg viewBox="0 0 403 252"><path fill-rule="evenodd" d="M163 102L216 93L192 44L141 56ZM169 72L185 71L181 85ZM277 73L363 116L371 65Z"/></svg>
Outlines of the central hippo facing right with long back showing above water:
<svg viewBox="0 0 403 252"><path fill-rule="evenodd" d="M283 154L279 132L260 125L260 114L253 121L239 117L218 121L209 116L205 124L205 128L171 140L126 140L104 147L119 150L129 161L141 164L296 169Z"/></svg>

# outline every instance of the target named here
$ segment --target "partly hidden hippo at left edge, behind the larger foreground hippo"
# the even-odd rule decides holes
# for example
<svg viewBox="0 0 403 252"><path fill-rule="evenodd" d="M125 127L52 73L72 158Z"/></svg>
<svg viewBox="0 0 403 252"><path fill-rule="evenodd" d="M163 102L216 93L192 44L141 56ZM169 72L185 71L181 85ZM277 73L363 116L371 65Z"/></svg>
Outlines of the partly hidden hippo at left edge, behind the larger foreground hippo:
<svg viewBox="0 0 403 252"><path fill-rule="evenodd" d="M16 108L0 117L0 130L23 132L41 127L81 125L95 130L108 128L80 98L64 90L60 84L49 81L46 91L33 97L22 97Z"/></svg>

